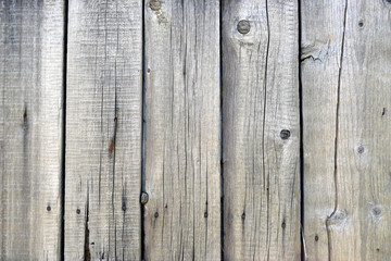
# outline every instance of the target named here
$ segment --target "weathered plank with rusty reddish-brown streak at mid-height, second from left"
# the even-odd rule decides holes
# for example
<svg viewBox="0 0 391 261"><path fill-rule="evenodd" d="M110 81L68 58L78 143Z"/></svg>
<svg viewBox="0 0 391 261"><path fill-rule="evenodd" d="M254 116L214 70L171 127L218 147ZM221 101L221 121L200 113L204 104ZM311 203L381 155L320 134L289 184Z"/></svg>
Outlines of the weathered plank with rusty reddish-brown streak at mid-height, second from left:
<svg viewBox="0 0 391 261"><path fill-rule="evenodd" d="M141 10L70 1L66 260L140 259Z"/></svg>

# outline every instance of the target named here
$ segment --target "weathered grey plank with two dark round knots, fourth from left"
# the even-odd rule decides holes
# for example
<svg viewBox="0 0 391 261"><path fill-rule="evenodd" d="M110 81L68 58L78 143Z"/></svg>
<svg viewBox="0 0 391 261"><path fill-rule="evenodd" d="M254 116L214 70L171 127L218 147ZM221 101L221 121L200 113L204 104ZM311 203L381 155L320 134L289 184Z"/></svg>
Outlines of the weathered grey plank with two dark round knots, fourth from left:
<svg viewBox="0 0 391 261"><path fill-rule="evenodd" d="M225 260L300 260L298 2L223 4Z"/></svg>

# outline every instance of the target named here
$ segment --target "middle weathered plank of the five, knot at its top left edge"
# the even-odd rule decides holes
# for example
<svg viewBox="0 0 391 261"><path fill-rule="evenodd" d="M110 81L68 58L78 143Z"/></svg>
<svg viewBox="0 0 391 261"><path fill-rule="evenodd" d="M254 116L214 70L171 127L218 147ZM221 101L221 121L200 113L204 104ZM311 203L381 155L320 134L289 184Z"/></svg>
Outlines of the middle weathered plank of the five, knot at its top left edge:
<svg viewBox="0 0 391 261"><path fill-rule="evenodd" d="M219 1L146 1L146 259L219 260Z"/></svg>

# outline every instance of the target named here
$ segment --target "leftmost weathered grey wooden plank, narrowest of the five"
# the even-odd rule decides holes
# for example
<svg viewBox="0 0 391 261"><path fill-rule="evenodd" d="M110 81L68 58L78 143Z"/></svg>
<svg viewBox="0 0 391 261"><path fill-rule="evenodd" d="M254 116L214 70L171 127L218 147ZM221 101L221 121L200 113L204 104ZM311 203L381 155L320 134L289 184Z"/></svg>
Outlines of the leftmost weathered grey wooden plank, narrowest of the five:
<svg viewBox="0 0 391 261"><path fill-rule="evenodd" d="M59 260L63 1L0 1L0 260Z"/></svg>

